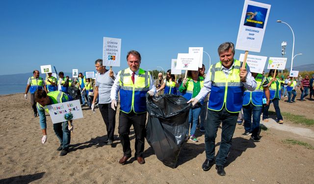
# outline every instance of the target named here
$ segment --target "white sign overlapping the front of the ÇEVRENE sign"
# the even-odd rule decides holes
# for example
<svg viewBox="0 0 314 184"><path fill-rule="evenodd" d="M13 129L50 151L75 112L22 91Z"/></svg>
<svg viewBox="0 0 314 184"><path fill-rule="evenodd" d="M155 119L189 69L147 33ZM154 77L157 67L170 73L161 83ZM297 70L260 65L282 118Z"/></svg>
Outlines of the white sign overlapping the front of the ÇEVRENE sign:
<svg viewBox="0 0 314 184"><path fill-rule="evenodd" d="M177 70L198 70L200 54L178 53Z"/></svg>

